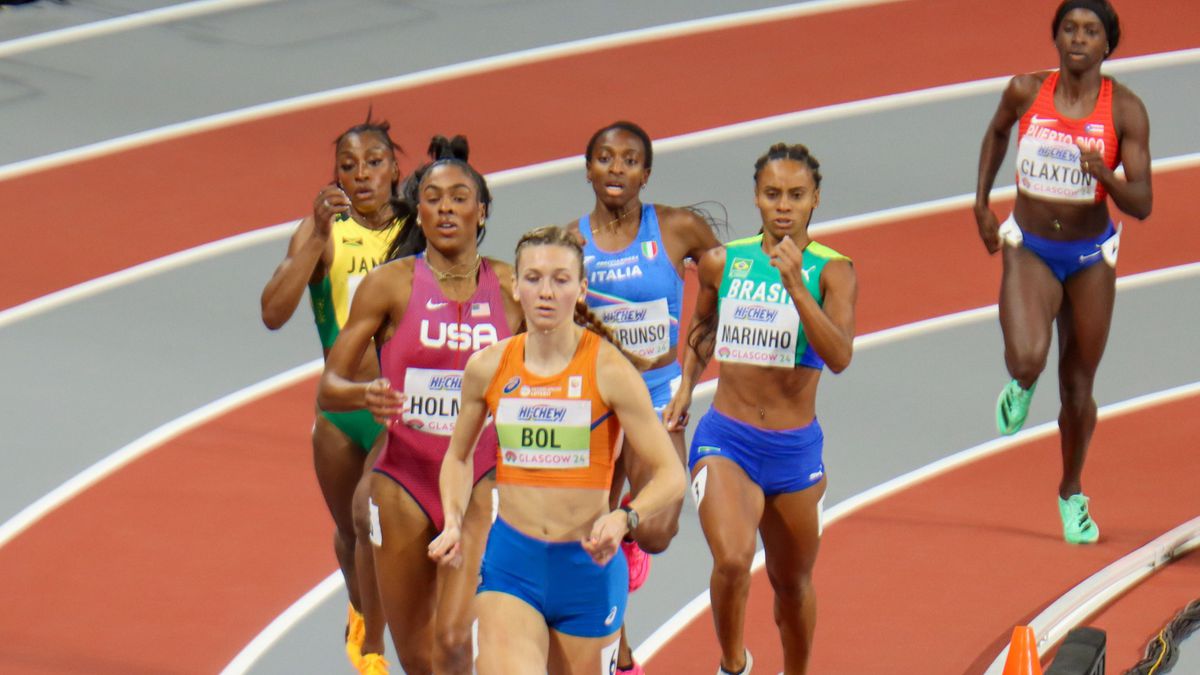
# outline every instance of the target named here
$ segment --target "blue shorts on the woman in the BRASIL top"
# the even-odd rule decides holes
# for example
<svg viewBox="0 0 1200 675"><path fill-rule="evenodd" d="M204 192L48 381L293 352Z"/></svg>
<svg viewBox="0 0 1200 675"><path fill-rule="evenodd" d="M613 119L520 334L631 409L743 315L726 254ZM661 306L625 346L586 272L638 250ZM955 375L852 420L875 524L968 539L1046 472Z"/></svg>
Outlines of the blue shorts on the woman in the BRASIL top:
<svg viewBox="0 0 1200 675"><path fill-rule="evenodd" d="M704 458L726 458L742 467L763 495L798 492L824 477L824 434L814 418L798 429L760 429L708 408L696 425L688 470Z"/></svg>

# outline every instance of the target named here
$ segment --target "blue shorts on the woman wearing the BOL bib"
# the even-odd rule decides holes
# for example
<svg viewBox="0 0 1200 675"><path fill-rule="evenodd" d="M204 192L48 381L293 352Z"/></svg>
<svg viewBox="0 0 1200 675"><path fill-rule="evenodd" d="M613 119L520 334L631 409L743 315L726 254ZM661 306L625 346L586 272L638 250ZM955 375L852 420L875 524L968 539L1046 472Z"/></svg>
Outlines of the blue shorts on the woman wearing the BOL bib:
<svg viewBox="0 0 1200 675"><path fill-rule="evenodd" d="M604 638L625 622L625 554L600 567L578 542L544 542L497 518L487 536L479 592L520 598L559 633Z"/></svg>

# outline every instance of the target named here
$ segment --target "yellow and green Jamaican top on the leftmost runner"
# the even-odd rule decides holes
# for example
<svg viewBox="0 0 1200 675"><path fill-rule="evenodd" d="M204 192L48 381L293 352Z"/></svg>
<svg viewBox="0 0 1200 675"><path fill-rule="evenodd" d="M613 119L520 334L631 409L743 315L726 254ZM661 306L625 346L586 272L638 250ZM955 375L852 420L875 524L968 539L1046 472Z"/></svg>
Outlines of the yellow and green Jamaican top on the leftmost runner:
<svg viewBox="0 0 1200 675"><path fill-rule="evenodd" d="M346 214L334 217L329 234L334 240L334 262L325 279L308 285L312 316L325 350L334 346L338 331L346 325L350 301L362 277L384 262L388 247L403 227L404 223L397 220L383 229L371 229Z"/></svg>

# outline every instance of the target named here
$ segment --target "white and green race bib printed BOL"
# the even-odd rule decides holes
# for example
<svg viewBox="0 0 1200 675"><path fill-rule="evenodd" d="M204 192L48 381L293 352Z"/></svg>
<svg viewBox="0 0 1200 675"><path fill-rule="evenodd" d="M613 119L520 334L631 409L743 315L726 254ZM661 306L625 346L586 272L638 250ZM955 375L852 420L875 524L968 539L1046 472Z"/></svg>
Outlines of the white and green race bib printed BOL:
<svg viewBox="0 0 1200 675"><path fill-rule="evenodd" d="M592 460L592 401L500 399L500 460L520 468L582 468Z"/></svg>

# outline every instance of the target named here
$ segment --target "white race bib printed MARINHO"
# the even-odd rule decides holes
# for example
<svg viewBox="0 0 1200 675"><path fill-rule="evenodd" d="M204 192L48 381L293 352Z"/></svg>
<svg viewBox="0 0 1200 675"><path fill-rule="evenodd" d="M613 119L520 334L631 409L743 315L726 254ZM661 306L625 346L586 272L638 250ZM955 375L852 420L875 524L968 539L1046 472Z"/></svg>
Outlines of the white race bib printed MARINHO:
<svg viewBox="0 0 1200 675"><path fill-rule="evenodd" d="M792 368L800 315L790 304L725 298L716 327L716 359Z"/></svg>

